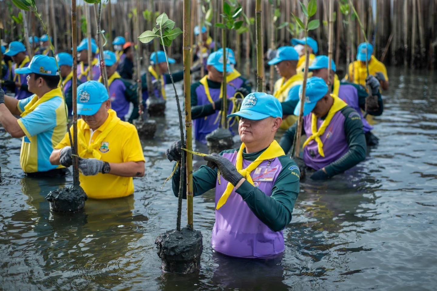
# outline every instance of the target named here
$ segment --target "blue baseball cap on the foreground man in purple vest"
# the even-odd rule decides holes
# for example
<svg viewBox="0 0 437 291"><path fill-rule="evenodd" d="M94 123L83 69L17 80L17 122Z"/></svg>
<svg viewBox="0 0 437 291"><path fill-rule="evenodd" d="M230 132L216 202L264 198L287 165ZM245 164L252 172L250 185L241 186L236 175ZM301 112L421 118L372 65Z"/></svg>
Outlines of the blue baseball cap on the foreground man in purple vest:
<svg viewBox="0 0 437 291"><path fill-rule="evenodd" d="M240 116L250 120L261 120L267 117L281 117L281 103L274 96L264 92L253 92L243 99L238 112L229 114L229 117Z"/></svg>

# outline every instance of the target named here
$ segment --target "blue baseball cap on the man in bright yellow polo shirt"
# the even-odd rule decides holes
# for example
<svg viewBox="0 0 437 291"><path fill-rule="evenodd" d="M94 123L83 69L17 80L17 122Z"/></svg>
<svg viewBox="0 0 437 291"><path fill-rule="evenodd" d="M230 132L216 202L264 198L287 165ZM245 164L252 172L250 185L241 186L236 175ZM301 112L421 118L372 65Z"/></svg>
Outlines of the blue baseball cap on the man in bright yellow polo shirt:
<svg viewBox="0 0 437 291"><path fill-rule="evenodd" d="M82 83L77 87L77 114L94 115L108 99L108 91L101 82Z"/></svg>

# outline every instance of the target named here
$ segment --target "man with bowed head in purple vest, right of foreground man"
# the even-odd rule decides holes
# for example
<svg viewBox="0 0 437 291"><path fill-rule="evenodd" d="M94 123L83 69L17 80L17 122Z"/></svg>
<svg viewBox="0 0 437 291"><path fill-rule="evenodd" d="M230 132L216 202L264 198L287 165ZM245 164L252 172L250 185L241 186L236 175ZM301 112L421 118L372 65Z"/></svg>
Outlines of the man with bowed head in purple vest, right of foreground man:
<svg viewBox="0 0 437 291"><path fill-rule="evenodd" d="M302 86L299 96L302 95ZM295 108L299 115L301 102ZM305 92L302 135L303 160L308 168L315 170L310 178L324 180L343 173L366 157L361 116L338 96L329 94L328 85L319 77L308 79ZM281 138L285 153L294 143L297 123Z"/></svg>

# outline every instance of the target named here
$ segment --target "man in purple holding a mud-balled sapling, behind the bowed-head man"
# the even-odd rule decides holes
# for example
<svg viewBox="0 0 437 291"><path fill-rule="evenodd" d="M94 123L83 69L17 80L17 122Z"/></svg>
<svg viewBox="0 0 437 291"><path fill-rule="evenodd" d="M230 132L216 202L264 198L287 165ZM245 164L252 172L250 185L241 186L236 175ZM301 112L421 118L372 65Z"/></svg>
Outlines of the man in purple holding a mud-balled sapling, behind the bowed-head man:
<svg viewBox="0 0 437 291"><path fill-rule="evenodd" d="M312 72L312 75L314 77L320 77L325 80L326 83L328 83L328 56L317 56L312 65L309 67L309 71ZM364 118L363 113L361 112L361 110L366 110L366 99L368 97L368 93L361 85L340 82L335 72L336 65L334 61L331 60L330 84L333 84L331 92L333 92L335 96L338 96L340 99L346 102L347 105L354 108L361 116L367 145L377 145L378 138L371 133L373 127L368 123L368 121ZM374 76L370 75L367 80L367 85L370 86L370 88L372 89L372 94L378 96L378 110L371 111L369 110L370 106L368 106L368 113L373 116L380 116L384 109L384 104L382 102L381 93L379 92L379 82ZM297 104L299 96L296 96L294 99L296 100L295 102Z"/></svg>

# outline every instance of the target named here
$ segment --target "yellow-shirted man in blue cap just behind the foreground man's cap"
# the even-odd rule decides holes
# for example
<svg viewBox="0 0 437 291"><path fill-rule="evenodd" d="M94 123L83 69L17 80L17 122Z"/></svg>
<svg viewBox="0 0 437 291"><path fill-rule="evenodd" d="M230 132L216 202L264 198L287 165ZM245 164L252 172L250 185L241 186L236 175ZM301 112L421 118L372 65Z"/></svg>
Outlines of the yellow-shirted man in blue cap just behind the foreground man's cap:
<svg viewBox="0 0 437 291"><path fill-rule="evenodd" d="M269 65L275 66L277 73L281 76L281 79L278 79L274 84L273 96L275 96L279 102L281 102L283 109L290 107L288 106L288 94L290 90L301 85L303 82L302 74L296 73L298 59L299 55L293 47L284 46L278 48L276 51L276 56L268 62ZM290 108L289 110L294 110L294 107ZM284 113L284 115L288 114ZM286 117L284 116L281 129L287 130L296 122L296 120L297 118L293 116L292 113Z"/></svg>

